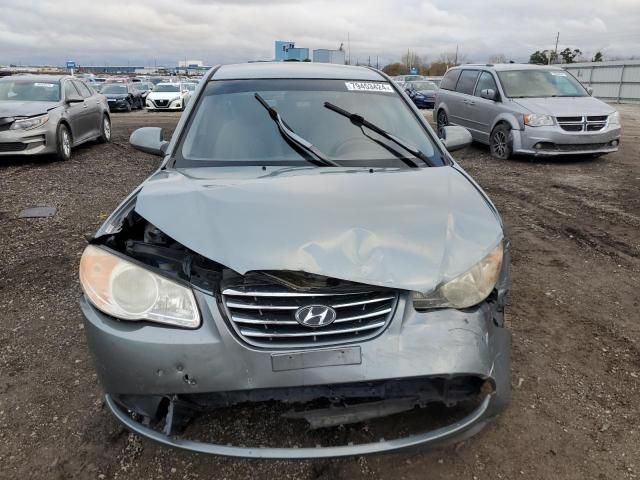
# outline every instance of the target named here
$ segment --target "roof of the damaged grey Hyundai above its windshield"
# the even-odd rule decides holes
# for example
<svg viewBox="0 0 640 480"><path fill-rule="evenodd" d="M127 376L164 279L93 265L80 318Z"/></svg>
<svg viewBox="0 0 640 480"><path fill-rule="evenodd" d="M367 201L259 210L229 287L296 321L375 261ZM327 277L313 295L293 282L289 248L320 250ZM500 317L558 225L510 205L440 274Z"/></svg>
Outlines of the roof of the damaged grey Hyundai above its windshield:
<svg viewBox="0 0 640 480"><path fill-rule="evenodd" d="M385 77L372 68L312 62L256 62L222 65L215 71L211 79L241 80L260 78L386 80Z"/></svg>

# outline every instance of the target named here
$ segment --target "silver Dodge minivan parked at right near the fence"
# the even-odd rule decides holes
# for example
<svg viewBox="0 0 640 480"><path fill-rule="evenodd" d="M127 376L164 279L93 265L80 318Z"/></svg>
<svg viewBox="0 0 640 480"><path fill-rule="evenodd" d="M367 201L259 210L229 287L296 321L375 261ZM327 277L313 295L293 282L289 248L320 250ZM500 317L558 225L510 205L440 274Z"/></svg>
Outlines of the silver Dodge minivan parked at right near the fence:
<svg viewBox="0 0 640 480"><path fill-rule="evenodd" d="M602 155L620 144L620 117L573 75L538 65L450 69L436 96L438 128L466 127L491 155Z"/></svg>

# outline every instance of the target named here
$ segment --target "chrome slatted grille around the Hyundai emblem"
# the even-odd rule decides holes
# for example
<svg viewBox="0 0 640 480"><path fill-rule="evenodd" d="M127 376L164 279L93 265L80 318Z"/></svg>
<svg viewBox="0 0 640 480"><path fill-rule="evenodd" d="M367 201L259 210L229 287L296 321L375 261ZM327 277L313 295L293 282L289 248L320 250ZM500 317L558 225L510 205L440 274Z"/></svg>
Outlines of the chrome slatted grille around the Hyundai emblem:
<svg viewBox="0 0 640 480"><path fill-rule="evenodd" d="M385 329L395 310L393 290L298 292L284 287L227 288L222 299L229 323L247 343L259 347L307 347L363 341ZM325 327L307 327L296 311L324 305L336 311Z"/></svg>

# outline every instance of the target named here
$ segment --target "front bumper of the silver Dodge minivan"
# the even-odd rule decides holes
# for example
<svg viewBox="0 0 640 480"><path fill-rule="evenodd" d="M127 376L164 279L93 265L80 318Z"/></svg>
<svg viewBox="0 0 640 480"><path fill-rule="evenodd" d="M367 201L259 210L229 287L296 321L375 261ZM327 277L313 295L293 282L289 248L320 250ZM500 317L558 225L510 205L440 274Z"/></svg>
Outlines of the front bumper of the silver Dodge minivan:
<svg viewBox="0 0 640 480"><path fill-rule="evenodd" d="M513 152L535 156L589 155L618 150L621 128L607 125L597 132L567 132L559 126L512 130Z"/></svg>

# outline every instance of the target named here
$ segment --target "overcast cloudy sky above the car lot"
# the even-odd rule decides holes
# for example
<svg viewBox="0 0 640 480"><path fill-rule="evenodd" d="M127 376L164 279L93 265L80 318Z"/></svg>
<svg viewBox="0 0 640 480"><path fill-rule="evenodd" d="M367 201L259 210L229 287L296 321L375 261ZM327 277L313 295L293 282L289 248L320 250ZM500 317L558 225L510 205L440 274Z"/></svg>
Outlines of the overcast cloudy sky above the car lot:
<svg viewBox="0 0 640 480"><path fill-rule="evenodd" d="M175 65L267 60L274 40L338 48L352 61L525 61L537 49L640 56L640 0L0 0L0 65Z"/></svg>

